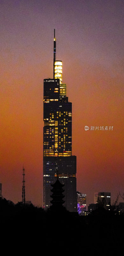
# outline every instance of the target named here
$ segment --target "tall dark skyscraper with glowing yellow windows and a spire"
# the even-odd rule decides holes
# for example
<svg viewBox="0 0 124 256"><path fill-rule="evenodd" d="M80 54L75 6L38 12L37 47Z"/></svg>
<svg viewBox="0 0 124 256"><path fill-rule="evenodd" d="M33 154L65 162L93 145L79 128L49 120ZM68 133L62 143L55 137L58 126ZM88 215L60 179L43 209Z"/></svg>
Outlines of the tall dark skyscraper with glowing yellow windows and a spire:
<svg viewBox="0 0 124 256"><path fill-rule="evenodd" d="M51 184L64 186L65 207L77 211L76 156L72 156L72 103L62 83L62 61L56 60L54 29L53 78L44 79L43 207L51 205Z"/></svg>

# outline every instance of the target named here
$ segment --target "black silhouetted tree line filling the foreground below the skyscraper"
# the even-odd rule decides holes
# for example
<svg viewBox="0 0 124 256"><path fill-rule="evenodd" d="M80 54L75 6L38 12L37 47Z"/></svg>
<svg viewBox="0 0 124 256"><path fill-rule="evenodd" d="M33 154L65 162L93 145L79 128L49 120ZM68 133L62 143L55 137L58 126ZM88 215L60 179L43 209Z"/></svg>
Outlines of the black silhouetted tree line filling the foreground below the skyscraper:
<svg viewBox="0 0 124 256"><path fill-rule="evenodd" d="M124 215L100 207L87 216L48 210L0 198L1 237L25 252L119 255L123 251ZM9 248L11 248L9 247ZM12 249L14 250L14 249Z"/></svg>

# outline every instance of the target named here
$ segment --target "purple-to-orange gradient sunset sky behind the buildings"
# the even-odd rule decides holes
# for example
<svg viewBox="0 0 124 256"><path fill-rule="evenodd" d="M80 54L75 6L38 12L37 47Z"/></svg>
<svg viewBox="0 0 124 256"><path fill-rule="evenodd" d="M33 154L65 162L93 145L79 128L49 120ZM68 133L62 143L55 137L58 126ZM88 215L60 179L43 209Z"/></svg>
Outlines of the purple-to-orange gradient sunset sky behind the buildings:
<svg viewBox="0 0 124 256"><path fill-rule="evenodd" d="M43 79L63 61L72 102L77 190L124 192L124 1L0 1L0 183L2 195L42 205ZM113 126L88 131L85 125ZM122 199L120 199L122 201Z"/></svg>

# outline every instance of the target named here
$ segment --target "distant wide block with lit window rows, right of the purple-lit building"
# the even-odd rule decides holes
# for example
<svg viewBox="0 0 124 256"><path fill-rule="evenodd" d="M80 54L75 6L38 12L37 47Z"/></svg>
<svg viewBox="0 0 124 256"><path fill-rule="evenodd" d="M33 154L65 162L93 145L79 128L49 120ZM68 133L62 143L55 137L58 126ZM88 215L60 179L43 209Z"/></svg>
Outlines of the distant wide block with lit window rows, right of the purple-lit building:
<svg viewBox="0 0 124 256"><path fill-rule="evenodd" d="M111 193L110 192L95 192L94 204L99 204L105 209L109 209L111 205Z"/></svg>

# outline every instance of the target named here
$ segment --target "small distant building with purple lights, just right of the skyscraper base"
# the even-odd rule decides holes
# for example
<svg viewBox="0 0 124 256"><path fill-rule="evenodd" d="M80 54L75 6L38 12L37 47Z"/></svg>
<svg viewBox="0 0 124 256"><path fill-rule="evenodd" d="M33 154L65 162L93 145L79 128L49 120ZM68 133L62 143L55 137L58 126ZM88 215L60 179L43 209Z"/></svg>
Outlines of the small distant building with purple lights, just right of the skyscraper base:
<svg viewBox="0 0 124 256"><path fill-rule="evenodd" d="M77 209L79 215L83 216L86 213L86 194L82 194L77 191Z"/></svg>

